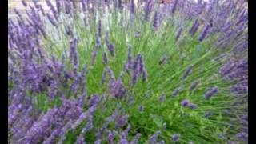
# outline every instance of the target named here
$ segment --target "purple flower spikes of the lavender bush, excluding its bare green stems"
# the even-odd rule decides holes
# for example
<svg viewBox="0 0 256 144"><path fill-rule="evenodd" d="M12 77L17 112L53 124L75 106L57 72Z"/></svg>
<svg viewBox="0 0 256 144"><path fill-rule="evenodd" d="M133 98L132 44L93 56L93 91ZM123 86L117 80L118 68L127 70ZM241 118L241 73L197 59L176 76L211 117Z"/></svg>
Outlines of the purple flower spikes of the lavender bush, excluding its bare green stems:
<svg viewBox="0 0 256 144"><path fill-rule="evenodd" d="M234 47L232 47L232 54L234 55L247 49L247 38L246 36L241 37L241 35L245 35L247 10L238 8L238 3L224 0L223 5L218 5L218 0L195 3L189 0L174 0L168 9L166 8L166 14L159 12L161 8L154 10L153 1L147 0L144 3L144 21L150 22L154 32L157 32L156 30L158 30L163 18L169 18L167 15L174 17L174 14L184 14L185 19L190 19L193 22L188 33L191 37L198 36L198 42L205 42L210 34L218 33L221 35L216 42L218 49L224 50L230 43L234 43ZM132 130L133 125L130 122L129 114L123 112L120 107L112 111L110 116L104 118L102 125L96 124L97 121L94 119L98 118L98 111L103 113L104 108L102 107L106 106L108 98L113 98L117 102L129 98L129 103L136 103L133 102L136 98L129 95L130 87L135 86L140 78L142 82L148 80L149 75L146 70L144 55L138 53L134 56L131 45L127 46L127 60L117 78L115 69L110 68L110 62L111 58L116 57L118 52L116 50L119 47L118 45L115 47L108 31L104 37L104 22L98 20L97 26L95 26L94 50L90 62L92 66L97 64L99 50L106 46L106 50L102 54L104 66L102 90L105 83L107 88L101 96L87 92L87 71L90 69L86 64L79 63L78 49L80 46L78 44L80 39L70 26L64 26L67 38L70 38L68 57L66 52L63 52L62 58L56 58L55 55L49 54L43 45L45 40L50 40L50 35L46 32L45 20L56 28L62 23L61 15L63 13L69 15L70 18L76 18L77 12L81 8L79 12L84 15L84 25L89 26L90 17L88 15L94 14L101 5L111 8L111 2L81 0L77 3L70 0L56 0L55 3L52 3L50 0L46 0L46 4L50 8L49 11L44 10L42 5L36 2L34 2L34 6L31 6L22 0L22 5L26 7L27 18L22 18L22 14L14 9L15 14L17 14L15 22L12 18L8 20L8 80L11 85L8 90L8 126L12 134L10 142L63 143L70 132L76 131L78 135L75 143L82 144L86 143L86 134L93 131L96 137L94 143L97 144L105 141L110 144L117 143L117 141L122 144L139 143L140 138L144 135ZM243 6L242 4L239 5ZM117 12L120 14L122 14L122 10L126 9L126 4L121 0L115 0L114 6L114 10L118 10ZM137 9L138 6L135 5L134 0L130 1L127 7L133 16L136 16L140 10ZM178 27L175 41L182 40L184 33L186 33L185 27ZM140 32L135 35L137 40L140 40L140 36ZM102 42L102 38L105 38L105 42ZM166 55L162 55L158 64L166 64L167 59ZM192 65L186 68L182 75L183 80L190 77L192 68ZM126 86L126 81L123 78L125 73L129 76L130 86ZM246 58L229 59L218 73L224 80L234 82L234 85L230 86L231 94L239 96L248 93L248 62ZM196 90L198 85L199 81L195 80L190 84L189 91ZM182 90L182 86L176 87L172 91L171 97L177 98ZM204 98L210 101L214 95L221 92L219 90L222 90L222 87L209 87L205 91ZM129 97L126 97L128 95ZM38 99L42 97L46 98L46 102L58 101L59 104L55 102L54 106L41 106L44 104L40 103ZM146 98L149 97L146 96ZM165 102L166 95L161 94L158 101ZM183 99L180 105L191 110L197 110L198 107L188 99ZM144 111L149 108L144 104L139 104L136 109L139 114L145 114ZM205 111L204 114L205 118L210 118L213 115L211 111ZM239 118L242 125L246 127L247 114L242 114ZM163 132L154 131L154 134L149 137L148 143L168 143L183 140L183 135L181 137L180 134L173 134L167 141L166 139L162 140L160 139L163 138L162 134L169 130L166 122L163 123L162 130ZM246 141L248 138L246 128L242 129L235 137Z"/></svg>

